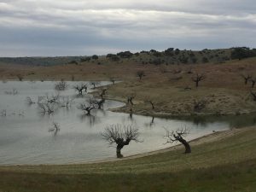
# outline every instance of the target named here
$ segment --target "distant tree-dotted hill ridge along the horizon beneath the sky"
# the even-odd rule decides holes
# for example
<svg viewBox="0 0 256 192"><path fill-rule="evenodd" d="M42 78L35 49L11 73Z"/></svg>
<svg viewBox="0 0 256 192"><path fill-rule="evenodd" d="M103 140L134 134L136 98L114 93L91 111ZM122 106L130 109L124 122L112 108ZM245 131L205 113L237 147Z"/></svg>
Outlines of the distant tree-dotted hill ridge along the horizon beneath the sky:
<svg viewBox="0 0 256 192"><path fill-rule="evenodd" d="M168 48L164 51L151 49L131 53L128 51L108 55L92 56L60 56L60 57L0 57L0 63L20 64L32 66L52 66L62 64L79 65L83 62L92 62L108 64L110 62L134 62L138 64L154 65L178 65L178 64L196 64L196 63L224 63L232 59L243 59L256 56L256 49L247 47L237 47L230 49L202 49L187 50Z"/></svg>

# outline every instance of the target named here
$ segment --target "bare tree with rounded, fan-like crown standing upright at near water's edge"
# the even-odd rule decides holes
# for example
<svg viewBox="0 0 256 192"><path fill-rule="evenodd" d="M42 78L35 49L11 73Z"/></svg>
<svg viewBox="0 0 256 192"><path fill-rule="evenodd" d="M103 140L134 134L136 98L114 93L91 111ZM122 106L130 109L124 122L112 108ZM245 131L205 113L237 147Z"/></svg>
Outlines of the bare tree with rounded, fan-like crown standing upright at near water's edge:
<svg viewBox="0 0 256 192"><path fill-rule="evenodd" d="M122 158L121 149L125 145L129 145L131 141L140 142L138 140L138 129L133 125L108 125L102 132L102 137L110 144L116 144L116 156Z"/></svg>

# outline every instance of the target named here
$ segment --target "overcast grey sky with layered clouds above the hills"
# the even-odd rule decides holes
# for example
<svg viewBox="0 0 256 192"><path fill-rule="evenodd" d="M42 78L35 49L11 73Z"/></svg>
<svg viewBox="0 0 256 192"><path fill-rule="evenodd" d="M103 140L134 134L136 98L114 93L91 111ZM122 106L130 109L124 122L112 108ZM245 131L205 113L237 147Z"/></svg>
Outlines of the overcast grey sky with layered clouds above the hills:
<svg viewBox="0 0 256 192"><path fill-rule="evenodd" d="M0 56L256 47L255 0L0 0Z"/></svg>

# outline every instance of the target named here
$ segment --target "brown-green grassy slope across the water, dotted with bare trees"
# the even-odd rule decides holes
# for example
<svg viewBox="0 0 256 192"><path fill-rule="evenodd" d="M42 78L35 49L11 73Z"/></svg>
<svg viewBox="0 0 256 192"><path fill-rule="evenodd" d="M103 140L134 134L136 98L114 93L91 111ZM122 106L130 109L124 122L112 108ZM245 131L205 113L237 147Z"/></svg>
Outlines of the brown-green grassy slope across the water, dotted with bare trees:
<svg viewBox="0 0 256 192"><path fill-rule="evenodd" d="M104 61L104 60L103 60ZM249 90L251 83L244 84L241 73L256 76L256 57L241 61L227 61L222 64L194 65L143 65L125 60L122 63L101 61L83 62L81 65L64 65L53 67L29 67L0 65L1 79L17 79L21 74L25 79L66 79L96 80L110 77L124 82L116 84L108 90L108 97L126 101L127 96L136 94L133 111L155 116L193 114L194 103L205 101L206 108L201 114L230 114L255 112ZM146 76L140 81L136 73L143 70ZM188 73L191 70L193 73ZM180 73L177 73L180 71ZM191 78L195 73L204 73L207 79L195 89ZM184 90L189 86L192 90ZM146 100L155 103L155 110ZM121 111L129 112L130 106Z"/></svg>

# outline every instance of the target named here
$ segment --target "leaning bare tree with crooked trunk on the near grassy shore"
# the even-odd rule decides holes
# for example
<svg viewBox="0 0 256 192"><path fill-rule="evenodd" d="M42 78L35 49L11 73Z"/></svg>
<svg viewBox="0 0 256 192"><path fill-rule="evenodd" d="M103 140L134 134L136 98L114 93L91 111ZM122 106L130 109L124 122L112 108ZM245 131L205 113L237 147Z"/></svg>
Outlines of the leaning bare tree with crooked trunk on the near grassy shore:
<svg viewBox="0 0 256 192"><path fill-rule="evenodd" d="M165 136L166 143L176 143L176 142L183 143L185 147L184 154L190 154L191 153L190 145L185 139L183 139L183 137L188 134L189 134L189 130L186 127L179 129L177 131L166 130L166 136Z"/></svg>

